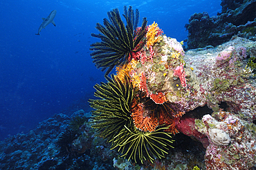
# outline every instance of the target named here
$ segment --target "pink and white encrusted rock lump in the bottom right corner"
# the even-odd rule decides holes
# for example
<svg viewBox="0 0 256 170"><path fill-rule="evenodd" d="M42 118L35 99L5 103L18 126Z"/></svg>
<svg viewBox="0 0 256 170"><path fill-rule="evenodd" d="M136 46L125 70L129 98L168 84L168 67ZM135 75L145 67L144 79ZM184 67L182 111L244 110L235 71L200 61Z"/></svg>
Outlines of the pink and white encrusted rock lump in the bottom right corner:
<svg viewBox="0 0 256 170"><path fill-rule="evenodd" d="M246 122L226 111L196 120L196 129L208 136L206 169L250 169L256 163L256 137ZM213 133L213 134L212 134Z"/></svg>

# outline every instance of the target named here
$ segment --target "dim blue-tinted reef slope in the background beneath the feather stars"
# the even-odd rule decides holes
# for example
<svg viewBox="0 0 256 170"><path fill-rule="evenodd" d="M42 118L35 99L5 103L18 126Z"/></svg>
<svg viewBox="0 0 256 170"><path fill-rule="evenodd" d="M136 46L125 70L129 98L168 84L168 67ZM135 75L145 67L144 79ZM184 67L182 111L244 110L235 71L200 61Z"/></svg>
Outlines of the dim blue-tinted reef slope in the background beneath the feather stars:
<svg viewBox="0 0 256 170"><path fill-rule="evenodd" d="M103 138L95 137L95 131L88 121L84 123L82 131L88 133L88 138L81 138L86 141L89 148L78 156L64 158L60 153L61 149L57 145L61 133L70 128L71 120L80 116L89 115L83 110L75 113L56 114L52 118L44 120L31 130L28 134L17 134L10 136L0 142L0 169L174 169L178 164L184 167L194 167L197 164L203 167L203 151L199 151L196 146L191 145L190 139L180 139L176 148L172 149L170 156L163 162L156 160L154 164L146 163L138 165L125 160L115 149L110 149L110 143ZM87 117L88 118L88 117ZM77 136L79 137L79 136ZM183 142L188 142L184 144ZM194 142L195 143L195 142ZM75 146L79 144L77 140L71 142ZM190 145L190 147L188 147ZM184 147L185 146L185 147ZM77 146L79 147L79 146ZM116 158L116 159L114 159ZM180 166L179 165L179 166Z"/></svg>

